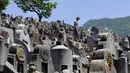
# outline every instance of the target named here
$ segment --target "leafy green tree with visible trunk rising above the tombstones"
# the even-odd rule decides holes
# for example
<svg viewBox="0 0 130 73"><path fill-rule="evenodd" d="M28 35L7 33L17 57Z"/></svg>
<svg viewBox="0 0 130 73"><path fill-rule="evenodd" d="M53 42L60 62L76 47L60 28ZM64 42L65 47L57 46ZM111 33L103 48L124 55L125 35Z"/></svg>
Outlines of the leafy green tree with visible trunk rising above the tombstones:
<svg viewBox="0 0 130 73"><path fill-rule="evenodd" d="M56 8L57 3L47 2L45 0L14 0L19 8L23 10L23 12L35 12L39 21L42 20L43 17L49 18L52 14L52 9Z"/></svg>

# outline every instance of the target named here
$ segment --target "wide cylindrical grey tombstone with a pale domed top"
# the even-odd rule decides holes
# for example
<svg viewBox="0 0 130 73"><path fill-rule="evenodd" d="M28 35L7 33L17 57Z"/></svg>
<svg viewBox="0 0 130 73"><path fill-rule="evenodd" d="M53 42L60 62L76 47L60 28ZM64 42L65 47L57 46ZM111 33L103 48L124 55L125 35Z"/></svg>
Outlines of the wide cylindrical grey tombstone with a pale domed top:
<svg viewBox="0 0 130 73"><path fill-rule="evenodd" d="M62 73L68 69L72 72L72 51L63 45L57 45L51 49L52 64L54 71Z"/></svg>

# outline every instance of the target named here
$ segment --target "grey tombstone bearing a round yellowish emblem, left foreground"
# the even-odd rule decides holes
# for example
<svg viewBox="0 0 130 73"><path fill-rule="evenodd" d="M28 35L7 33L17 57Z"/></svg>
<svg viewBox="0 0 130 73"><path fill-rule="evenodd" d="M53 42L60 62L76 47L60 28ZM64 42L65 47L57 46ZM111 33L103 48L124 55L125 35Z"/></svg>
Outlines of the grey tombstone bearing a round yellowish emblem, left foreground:
<svg viewBox="0 0 130 73"><path fill-rule="evenodd" d="M8 61L19 73L27 73L27 53L25 48L20 44L12 44L9 49Z"/></svg>

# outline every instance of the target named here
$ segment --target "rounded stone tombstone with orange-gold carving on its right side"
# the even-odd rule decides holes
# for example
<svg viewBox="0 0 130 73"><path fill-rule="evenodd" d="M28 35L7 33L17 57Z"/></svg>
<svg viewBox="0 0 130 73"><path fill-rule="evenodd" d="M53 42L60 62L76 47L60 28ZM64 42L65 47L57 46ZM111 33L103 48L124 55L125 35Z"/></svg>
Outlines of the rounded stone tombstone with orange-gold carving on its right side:
<svg viewBox="0 0 130 73"><path fill-rule="evenodd" d="M111 52L108 49L99 49L94 53L90 63L90 73L116 73Z"/></svg>

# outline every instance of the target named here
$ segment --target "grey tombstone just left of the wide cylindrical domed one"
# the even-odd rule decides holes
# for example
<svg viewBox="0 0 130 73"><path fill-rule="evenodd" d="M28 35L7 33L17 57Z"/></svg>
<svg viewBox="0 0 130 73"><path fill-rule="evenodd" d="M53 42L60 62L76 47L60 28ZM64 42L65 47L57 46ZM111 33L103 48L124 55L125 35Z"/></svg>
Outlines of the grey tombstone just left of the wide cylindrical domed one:
<svg viewBox="0 0 130 73"><path fill-rule="evenodd" d="M30 62L41 73L53 73L52 60L50 58L50 48L46 45L37 45L32 54Z"/></svg>

